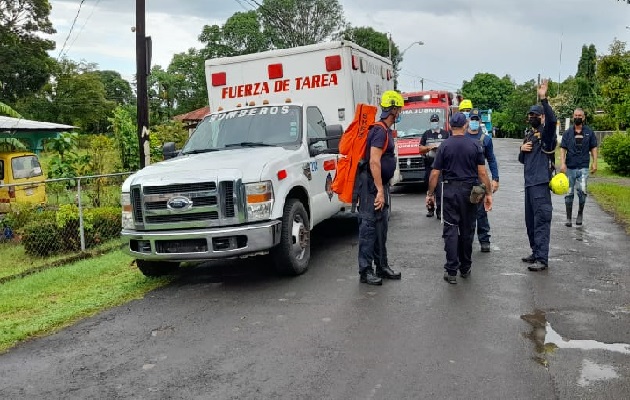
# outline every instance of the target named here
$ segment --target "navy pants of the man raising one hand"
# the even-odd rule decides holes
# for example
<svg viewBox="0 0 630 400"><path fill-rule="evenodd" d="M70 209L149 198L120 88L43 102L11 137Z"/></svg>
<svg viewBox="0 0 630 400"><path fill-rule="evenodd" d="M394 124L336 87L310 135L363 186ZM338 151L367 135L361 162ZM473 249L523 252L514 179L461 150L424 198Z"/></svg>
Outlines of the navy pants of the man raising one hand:
<svg viewBox="0 0 630 400"><path fill-rule="evenodd" d="M529 247L536 261L547 264L551 236L551 191L544 183L525 188L525 226Z"/></svg>

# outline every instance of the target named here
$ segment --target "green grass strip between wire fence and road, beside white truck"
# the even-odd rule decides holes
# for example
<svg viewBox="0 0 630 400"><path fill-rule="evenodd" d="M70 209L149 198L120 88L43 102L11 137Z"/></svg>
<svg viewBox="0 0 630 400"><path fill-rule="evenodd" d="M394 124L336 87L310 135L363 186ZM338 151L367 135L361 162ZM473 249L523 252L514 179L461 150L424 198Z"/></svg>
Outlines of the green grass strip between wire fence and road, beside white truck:
<svg viewBox="0 0 630 400"><path fill-rule="evenodd" d="M0 285L0 352L163 286L121 250Z"/></svg>

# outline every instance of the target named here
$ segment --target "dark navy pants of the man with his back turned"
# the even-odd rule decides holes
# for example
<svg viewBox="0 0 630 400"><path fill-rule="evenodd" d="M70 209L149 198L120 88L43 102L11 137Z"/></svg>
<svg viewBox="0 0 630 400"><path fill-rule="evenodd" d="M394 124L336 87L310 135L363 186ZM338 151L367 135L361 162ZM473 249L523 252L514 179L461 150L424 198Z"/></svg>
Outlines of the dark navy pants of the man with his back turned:
<svg viewBox="0 0 630 400"><path fill-rule="evenodd" d="M477 205L470 202L472 185L458 182L444 183L442 211L442 238L449 275L457 275L457 270L466 272L472 266L473 221L477 215Z"/></svg>

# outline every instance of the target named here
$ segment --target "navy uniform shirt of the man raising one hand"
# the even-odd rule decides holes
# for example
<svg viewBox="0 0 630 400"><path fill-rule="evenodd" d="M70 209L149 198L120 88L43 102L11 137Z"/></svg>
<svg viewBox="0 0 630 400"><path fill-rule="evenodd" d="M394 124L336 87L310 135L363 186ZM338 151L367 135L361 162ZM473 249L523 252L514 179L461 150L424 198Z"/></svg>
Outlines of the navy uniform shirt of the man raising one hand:
<svg viewBox="0 0 630 400"><path fill-rule="evenodd" d="M541 104L545 112L545 126L542 127L542 131L527 130L525 142L532 142L532 151L521 151L518 155L518 161L525 166L523 168L525 187L548 184L551 179L550 155L544 153L543 149L547 152L555 150L557 143L556 115L547 99L543 99Z"/></svg>

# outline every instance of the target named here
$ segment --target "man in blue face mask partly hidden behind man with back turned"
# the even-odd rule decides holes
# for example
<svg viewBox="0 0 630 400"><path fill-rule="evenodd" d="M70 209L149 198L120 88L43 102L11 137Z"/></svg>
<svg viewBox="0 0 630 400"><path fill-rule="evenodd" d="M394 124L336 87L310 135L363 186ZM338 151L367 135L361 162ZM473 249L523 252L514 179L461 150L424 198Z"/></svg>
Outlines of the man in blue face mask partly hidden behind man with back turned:
<svg viewBox="0 0 630 400"><path fill-rule="evenodd" d="M492 138L490 135L486 135L481 131L481 114L477 108L470 110L466 137L478 141L481 145L483 155L488 162L488 167L490 167L490 173L492 175L491 190L492 193L496 192L499 190L499 165L497 164L497 158L494 155ZM488 221L488 213L481 203L477 206L477 218L473 220L473 236L475 227L477 229L477 239L479 239L481 251L484 253L490 252L490 222Z"/></svg>

